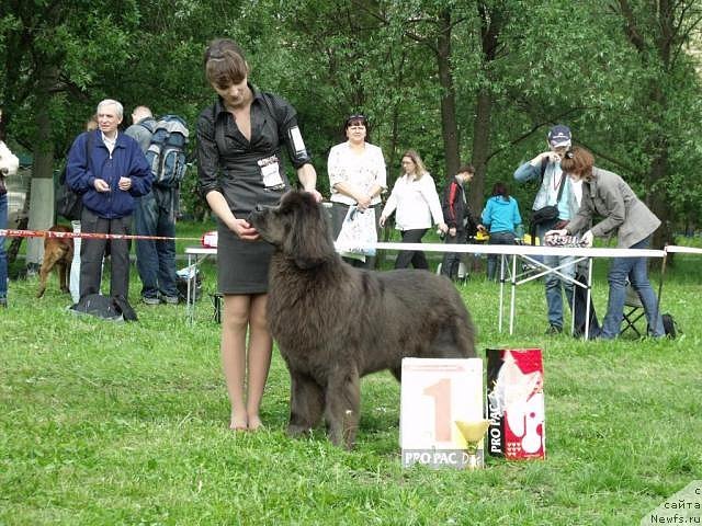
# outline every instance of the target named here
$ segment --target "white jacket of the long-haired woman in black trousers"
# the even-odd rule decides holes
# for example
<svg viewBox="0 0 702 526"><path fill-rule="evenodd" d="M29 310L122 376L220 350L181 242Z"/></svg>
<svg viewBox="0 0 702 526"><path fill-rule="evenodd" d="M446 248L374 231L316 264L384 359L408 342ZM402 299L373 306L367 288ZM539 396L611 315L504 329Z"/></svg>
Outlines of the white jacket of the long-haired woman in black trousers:
<svg viewBox="0 0 702 526"><path fill-rule="evenodd" d="M405 174L395 182L382 215L388 217L395 209L398 230L431 228L432 218L434 225L444 222L437 186L429 173L419 181Z"/></svg>

